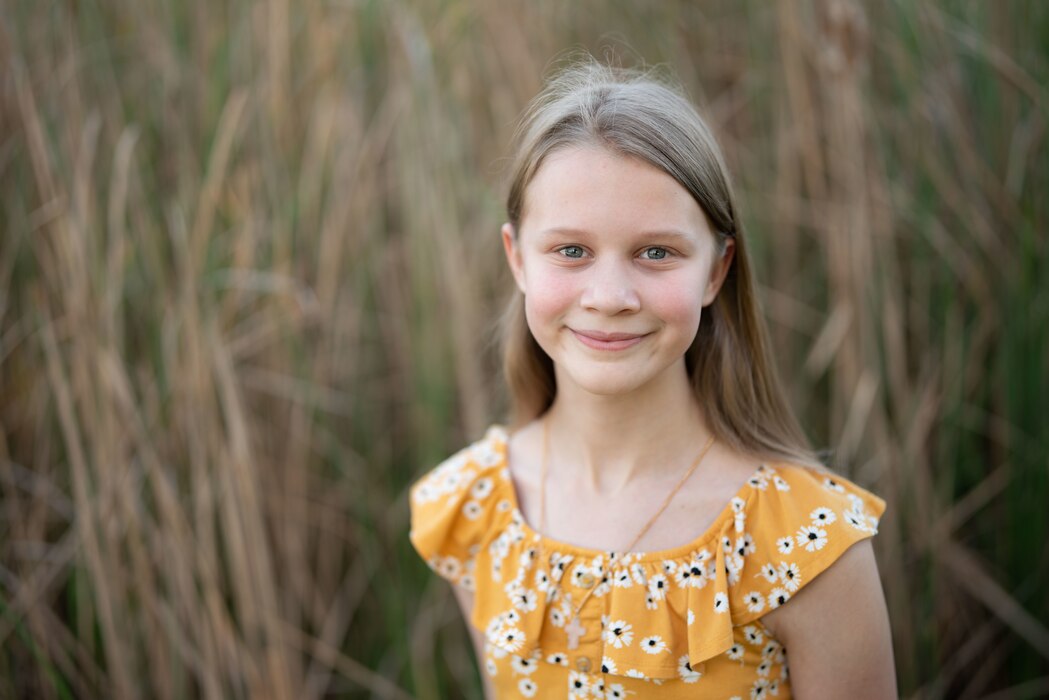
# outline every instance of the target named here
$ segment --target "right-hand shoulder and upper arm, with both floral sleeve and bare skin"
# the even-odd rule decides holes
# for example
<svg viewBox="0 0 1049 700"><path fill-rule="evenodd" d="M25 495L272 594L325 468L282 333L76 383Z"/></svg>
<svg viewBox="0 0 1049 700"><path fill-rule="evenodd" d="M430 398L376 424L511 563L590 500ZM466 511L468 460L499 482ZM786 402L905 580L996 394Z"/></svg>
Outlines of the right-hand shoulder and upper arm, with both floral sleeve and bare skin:
<svg viewBox="0 0 1049 700"><path fill-rule="evenodd" d="M828 470L767 463L725 538L733 623L761 618L790 650L801 695L894 697L892 643L870 538L885 503ZM731 543L731 545L730 545ZM861 690L858 690L861 688Z"/></svg>

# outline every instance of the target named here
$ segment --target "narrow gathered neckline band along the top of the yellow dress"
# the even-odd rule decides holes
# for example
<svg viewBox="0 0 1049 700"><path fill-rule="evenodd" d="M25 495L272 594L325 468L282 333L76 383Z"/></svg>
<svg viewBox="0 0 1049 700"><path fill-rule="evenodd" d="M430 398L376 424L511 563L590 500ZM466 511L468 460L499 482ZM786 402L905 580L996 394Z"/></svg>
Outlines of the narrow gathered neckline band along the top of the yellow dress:
<svg viewBox="0 0 1049 700"><path fill-rule="evenodd" d="M504 488L506 500L510 503L511 515L520 525L520 529L526 534L527 539L532 543L540 543L547 552L571 554L573 556L583 558L608 557L613 567L643 561L691 559L697 550L709 546L711 542L721 536L726 523L734 521L738 513L745 512L748 509L750 506L750 500L754 497L754 493L756 492L756 489L752 488L754 480L758 479L763 472L768 470L768 467L765 464L762 464L753 472L751 472L751 474L744 480L740 487L733 492L732 496L726 502L725 506L718 513L718 516L714 517L713 522L711 522L699 536L693 537L690 542L667 549L618 552L616 550L600 550L580 545L573 545L561 539L550 537L532 527L521 510L520 501L517 497L517 489L514 486L513 478L510 473L510 434L507 428L502 425L491 426L488 429L486 440L491 441L492 447L500 457L500 462L494 465L493 468L506 470L506 478L499 480L499 484ZM613 556L613 554L615 554L615 556Z"/></svg>

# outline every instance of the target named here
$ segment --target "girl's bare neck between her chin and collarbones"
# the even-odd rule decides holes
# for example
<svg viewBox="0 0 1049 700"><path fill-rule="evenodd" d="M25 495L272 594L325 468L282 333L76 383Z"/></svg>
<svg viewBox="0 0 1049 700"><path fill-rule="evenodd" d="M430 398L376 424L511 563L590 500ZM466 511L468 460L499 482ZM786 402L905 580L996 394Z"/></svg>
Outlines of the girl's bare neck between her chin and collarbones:
<svg viewBox="0 0 1049 700"><path fill-rule="evenodd" d="M681 367L680 377L619 396L599 396L562 383L544 416L550 470L615 493L639 478L677 475L710 436Z"/></svg>

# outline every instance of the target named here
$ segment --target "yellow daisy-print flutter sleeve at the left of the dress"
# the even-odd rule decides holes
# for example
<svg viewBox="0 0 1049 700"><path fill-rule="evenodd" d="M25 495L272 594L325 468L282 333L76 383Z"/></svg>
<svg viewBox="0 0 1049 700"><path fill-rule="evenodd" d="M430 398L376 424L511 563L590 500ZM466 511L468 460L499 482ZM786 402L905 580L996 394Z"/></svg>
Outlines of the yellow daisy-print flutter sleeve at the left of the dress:
<svg viewBox="0 0 1049 700"><path fill-rule="evenodd" d="M468 590L473 590L476 554L501 515L495 506L497 465L487 453L479 443L467 447L423 476L410 493L412 546L437 575Z"/></svg>

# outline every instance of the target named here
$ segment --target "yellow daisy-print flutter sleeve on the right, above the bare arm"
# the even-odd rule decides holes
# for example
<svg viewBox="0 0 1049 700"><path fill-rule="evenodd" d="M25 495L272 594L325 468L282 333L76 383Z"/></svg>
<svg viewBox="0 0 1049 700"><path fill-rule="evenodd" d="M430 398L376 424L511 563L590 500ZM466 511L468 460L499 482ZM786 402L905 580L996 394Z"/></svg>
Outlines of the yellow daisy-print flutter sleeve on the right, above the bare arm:
<svg viewBox="0 0 1049 700"><path fill-rule="evenodd" d="M740 571L734 622L785 604L850 547L877 534L884 510L884 501L833 472L768 468L747 509L746 531L723 543Z"/></svg>

